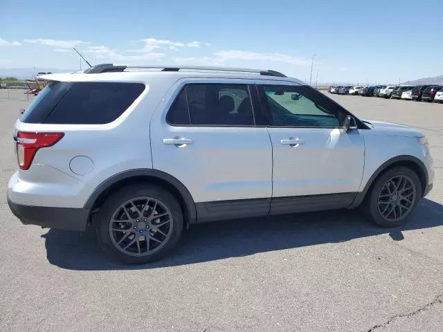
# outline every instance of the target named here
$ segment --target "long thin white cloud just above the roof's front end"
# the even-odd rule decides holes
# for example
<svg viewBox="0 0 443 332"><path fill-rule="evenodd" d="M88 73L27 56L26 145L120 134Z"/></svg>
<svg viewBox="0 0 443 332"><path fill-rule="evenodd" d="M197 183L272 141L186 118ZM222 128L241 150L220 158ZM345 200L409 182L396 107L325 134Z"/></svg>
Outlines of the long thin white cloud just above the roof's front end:
<svg viewBox="0 0 443 332"><path fill-rule="evenodd" d="M220 50L215 57L225 62L228 60L258 60L271 62L284 62L296 66L307 66L311 64L309 59L300 59L284 53L256 53L249 50Z"/></svg>

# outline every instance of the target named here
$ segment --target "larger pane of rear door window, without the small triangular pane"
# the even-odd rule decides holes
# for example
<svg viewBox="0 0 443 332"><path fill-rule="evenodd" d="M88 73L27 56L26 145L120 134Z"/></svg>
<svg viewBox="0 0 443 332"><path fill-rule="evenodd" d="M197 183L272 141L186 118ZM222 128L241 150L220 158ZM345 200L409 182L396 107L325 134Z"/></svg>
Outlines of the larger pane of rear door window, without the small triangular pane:
<svg viewBox="0 0 443 332"><path fill-rule="evenodd" d="M246 84L188 84L186 96L191 124L254 124Z"/></svg>

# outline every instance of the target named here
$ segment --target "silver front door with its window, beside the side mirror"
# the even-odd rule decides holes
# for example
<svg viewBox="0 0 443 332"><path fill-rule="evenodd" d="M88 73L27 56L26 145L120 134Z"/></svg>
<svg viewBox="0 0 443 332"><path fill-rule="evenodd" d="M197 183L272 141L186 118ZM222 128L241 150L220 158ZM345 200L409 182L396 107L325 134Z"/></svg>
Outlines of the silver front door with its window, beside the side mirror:
<svg viewBox="0 0 443 332"><path fill-rule="evenodd" d="M273 145L271 214L344 208L359 190L364 142L342 128L347 113L293 82L256 81Z"/></svg>

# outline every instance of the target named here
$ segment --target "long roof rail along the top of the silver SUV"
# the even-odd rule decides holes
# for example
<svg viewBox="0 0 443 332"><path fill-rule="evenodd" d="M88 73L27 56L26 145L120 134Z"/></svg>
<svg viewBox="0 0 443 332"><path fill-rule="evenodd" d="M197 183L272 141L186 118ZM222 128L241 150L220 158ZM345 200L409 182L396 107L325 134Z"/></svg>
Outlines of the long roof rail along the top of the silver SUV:
<svg viewBox="0 0 443 332"><path fill-rule="evenodd" d="M265 76L286 77L286 75L271 70L248 69L248 68L228 68L228 67L206 67L206 66L114 66L113 64L98 64L84 71L87 74L121 72L125 69L161 69L161 71L180 71L188 69L192 71L230 71L239 73L256 73Z"/></svg>

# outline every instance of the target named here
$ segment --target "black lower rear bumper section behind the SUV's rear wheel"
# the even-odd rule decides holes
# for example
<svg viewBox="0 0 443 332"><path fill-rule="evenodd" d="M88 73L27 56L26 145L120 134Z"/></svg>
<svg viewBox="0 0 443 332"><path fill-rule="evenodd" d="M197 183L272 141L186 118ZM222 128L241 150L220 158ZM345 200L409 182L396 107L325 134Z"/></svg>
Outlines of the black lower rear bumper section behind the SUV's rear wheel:
<svg viewBox="0 0 443 332"><path fill-rule="evenodd" d="M87 209L21 205L12 202L9 196L8 205L21 223L42 226L42 228L84 231L89 218Z"/></svg>

